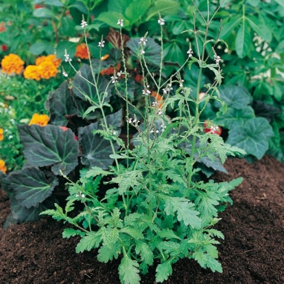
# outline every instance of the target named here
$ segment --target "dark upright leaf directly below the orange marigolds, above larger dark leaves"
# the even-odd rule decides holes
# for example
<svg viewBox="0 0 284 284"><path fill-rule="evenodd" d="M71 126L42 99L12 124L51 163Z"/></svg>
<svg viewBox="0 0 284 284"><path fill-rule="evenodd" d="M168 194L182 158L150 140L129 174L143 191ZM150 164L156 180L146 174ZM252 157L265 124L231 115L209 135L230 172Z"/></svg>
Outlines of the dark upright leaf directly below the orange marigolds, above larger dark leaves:
<svg viewBox="0 0 284 284"><path fill-rule="evenodd" d="M49 110L49 123L58 126L66 126L68 119L78 113L67 82L63 82L56 91L49 93L45 108Z"/></svg>

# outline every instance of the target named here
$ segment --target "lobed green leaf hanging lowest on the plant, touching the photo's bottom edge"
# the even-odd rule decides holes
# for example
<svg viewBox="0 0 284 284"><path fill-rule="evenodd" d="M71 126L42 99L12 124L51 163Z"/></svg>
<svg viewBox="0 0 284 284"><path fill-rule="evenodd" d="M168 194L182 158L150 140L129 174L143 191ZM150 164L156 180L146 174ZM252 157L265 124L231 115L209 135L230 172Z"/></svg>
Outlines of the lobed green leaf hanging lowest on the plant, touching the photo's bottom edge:
<svg viewBox="0 0 284 284"><path fill-rule="evenodd" d="M139 263L124 256L119 264L119 279L123 284L139 284Z"/></svg>

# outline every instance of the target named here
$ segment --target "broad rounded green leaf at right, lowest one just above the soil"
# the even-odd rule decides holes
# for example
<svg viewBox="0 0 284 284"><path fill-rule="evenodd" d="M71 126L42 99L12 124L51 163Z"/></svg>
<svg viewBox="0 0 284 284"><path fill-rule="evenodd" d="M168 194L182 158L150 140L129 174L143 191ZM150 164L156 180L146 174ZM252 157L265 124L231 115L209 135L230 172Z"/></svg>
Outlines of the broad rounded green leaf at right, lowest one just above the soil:
<svg viewBox="0 0 284 284"><path fill-rule="evenodd" d="M248 119L244 126L235 126L228 131L226 143L237 146L247 154L261 159L268 150L272 127L263 117Z"/></svg>

